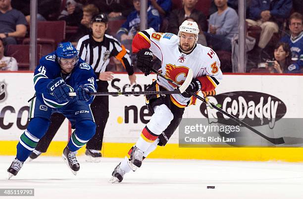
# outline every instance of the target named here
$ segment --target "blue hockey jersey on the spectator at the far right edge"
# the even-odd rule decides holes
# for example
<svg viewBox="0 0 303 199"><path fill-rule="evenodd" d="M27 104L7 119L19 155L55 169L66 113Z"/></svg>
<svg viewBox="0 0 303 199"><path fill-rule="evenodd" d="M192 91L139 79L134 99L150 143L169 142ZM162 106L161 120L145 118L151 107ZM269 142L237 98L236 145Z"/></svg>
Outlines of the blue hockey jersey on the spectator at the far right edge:
<svg viewBox="0 0 303 199"><path fill-rule="evenodd" d="M295 40L290 36L285 36L281 42L288 43L292 52L293 66L289 67L290 71L299 71L303 68L303 32Z"/></svg>

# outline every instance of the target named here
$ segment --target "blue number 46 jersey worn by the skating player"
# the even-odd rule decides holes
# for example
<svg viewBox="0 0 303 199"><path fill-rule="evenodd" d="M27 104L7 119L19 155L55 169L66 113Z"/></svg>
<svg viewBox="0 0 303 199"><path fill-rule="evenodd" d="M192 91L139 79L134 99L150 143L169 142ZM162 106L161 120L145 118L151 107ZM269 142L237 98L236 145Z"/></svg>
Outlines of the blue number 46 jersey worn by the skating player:
<svg viewBox="0 0 303 199"><path fill-rule="evenodd" d="M42 57L34 73L36 96L50 108L60 108L69 102L76 100L76 97L73 97L73 99L69 102L58 102L54 96L49 93L47 85L50 83L50 81L62 77L61 67L56 60L57 56L55 51ZM67 77L62 79L69 86L70 92L77 90L79 85L88 85L93 88L94 92L97 90L96 75L94 70L90 65L85 63L85 61L80 58L73 71ZM94 98L87 103L91 104L93 99Z"/></svg>

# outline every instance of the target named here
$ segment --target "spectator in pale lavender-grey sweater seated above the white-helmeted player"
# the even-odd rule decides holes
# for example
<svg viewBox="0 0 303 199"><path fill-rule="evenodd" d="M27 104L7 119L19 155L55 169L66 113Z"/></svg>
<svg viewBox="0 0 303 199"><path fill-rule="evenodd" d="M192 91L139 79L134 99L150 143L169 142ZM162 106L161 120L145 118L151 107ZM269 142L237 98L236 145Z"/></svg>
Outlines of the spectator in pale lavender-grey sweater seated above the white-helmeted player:
<svg viewBox="0 0 303 199"><path fill-rule="evenodd" d="M218 11L211 14L205 33L208 46L213 50L231 51L231 40L238 34L238 14L227 5L227 0L214 0Z"/></svg>

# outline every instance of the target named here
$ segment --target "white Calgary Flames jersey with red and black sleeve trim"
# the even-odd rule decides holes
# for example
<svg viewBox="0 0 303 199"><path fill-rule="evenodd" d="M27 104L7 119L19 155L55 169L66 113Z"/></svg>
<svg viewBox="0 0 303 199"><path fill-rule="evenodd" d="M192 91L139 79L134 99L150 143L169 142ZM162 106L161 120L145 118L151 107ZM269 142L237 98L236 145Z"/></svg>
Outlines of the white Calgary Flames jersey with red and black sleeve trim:
<svg viewBox="0 0 303 199"><path fill-rule="evenodd" d="M202 91L213 90L222 80L220 60L209 47L197 44L194 50L185 54L179 49L180 39L172 33L156 33L148 29L139 32L133 40L133 52L149 48L161 60L161 72L167 78L182 84L187 77L188 70L192 69L194 77L201 81ZM157 83L167 90L176 87L171 82L158 78ZM195 104L196 98L185 98L181 94L172 94L172 102L178 107Z"/></svg>

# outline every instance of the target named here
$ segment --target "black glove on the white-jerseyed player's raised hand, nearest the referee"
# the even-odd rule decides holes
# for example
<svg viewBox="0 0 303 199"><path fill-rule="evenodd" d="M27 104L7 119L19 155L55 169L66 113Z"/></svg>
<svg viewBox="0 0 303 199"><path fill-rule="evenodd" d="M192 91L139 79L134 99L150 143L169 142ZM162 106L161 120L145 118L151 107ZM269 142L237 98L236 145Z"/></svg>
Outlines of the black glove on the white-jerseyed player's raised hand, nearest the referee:
<svg viewBox="0 0 303 199"><path fill-rule="evenodd" d="M152 51L150 49L142 49L137 53L137 68L140 69L145 76L152 72Z"/></svg>

